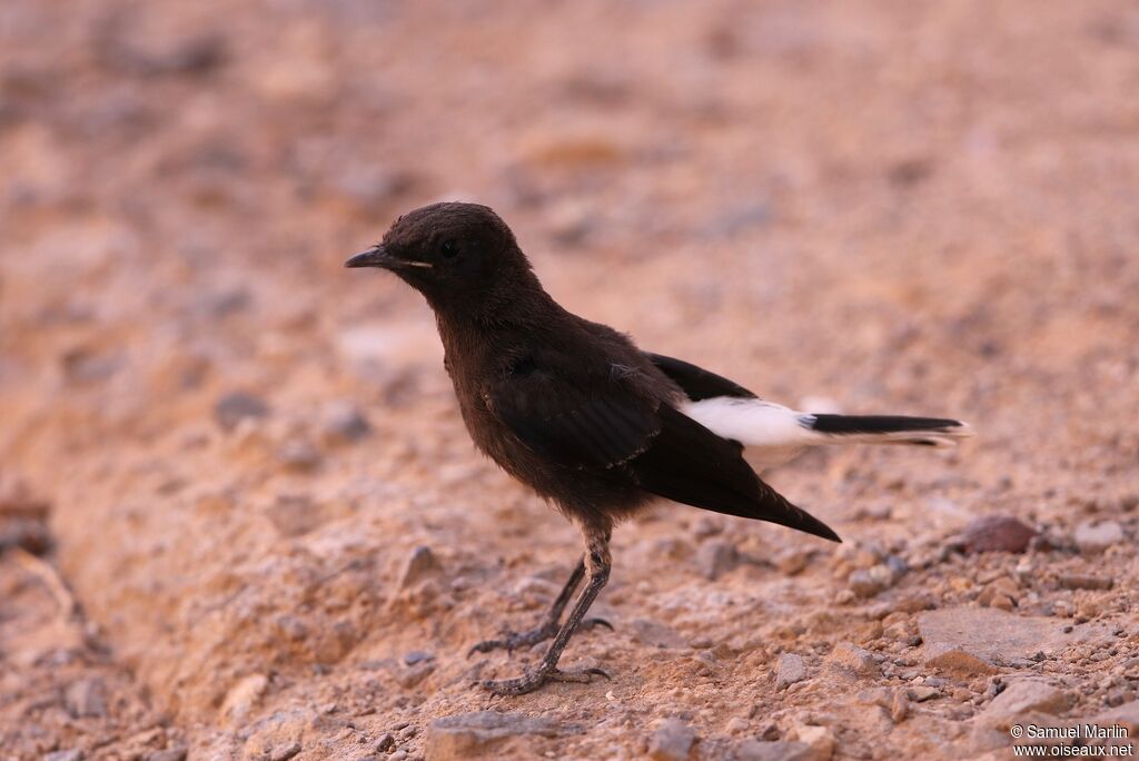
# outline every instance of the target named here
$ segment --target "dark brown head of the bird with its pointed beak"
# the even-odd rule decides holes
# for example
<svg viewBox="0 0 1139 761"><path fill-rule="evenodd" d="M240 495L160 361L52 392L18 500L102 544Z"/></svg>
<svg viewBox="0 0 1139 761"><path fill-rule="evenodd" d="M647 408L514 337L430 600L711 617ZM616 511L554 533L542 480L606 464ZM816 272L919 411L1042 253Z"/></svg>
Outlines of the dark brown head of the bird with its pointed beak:
<svg viewBox="0 0 1139 761"><path fill-rule="evenodd" d="M384 239L344 262L398 275L439 311L480 311L536 279L510 228L487 206L439 203L400 216Z"/></svg>

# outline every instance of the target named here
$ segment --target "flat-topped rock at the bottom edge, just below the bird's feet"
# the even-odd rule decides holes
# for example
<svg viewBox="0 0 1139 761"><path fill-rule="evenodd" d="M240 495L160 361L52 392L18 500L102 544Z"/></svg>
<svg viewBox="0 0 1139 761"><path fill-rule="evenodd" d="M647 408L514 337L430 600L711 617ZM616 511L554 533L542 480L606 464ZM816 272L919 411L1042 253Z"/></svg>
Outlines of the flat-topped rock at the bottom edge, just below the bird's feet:
<svg viewBox="0 0 1139 761"><path fill-rule="evenodd" d="M532 758L527 736L557 737L570 729L522 713L476 711L436 719L427 729L426 761Z"/></svg>

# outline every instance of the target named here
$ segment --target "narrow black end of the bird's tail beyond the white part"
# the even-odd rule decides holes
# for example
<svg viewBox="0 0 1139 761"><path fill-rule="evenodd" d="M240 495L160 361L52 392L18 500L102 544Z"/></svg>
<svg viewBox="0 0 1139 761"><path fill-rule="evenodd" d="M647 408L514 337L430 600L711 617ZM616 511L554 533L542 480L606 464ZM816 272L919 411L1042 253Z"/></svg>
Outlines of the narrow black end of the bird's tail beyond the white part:
<svg viewBox="0 0 1139 761"><path fill-rule="evenodd" d="M960 420L902 415L804 414L800 425L816 434L818 443L916 444L948 448L973 435Z"/></svg>

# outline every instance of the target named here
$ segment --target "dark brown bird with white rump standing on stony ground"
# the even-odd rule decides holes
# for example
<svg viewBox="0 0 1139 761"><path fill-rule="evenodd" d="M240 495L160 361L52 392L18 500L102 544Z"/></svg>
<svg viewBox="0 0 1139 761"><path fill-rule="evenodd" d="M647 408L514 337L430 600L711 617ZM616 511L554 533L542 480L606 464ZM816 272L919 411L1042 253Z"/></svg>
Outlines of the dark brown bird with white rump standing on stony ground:
<svg viewBox="0 0 1139 761"><path fill-rule="evenodd" d="M403 214L345 267L387 270L426 298L475 447L582 532L584 551L539 625L472 648L551 640L521 676L481 682L495 695L609 678L601 669L558 663L579 629L612 629L585 614L609 579L614 527L653 502L838 542L756 468L821 444L945 448L972 435L948 418L796 411L690 362L642 351L626 335L560 306L510 228L484 205L442 202Z"/></svg>

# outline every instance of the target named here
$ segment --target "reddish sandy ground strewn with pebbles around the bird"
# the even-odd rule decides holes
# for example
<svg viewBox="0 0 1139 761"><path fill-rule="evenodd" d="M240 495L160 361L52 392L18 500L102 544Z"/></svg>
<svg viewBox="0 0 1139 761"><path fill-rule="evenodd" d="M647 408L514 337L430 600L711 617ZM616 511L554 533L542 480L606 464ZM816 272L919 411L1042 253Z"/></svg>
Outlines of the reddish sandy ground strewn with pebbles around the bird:
<svg viewBox="0 0 1139 761"><path fill-rule="evenodd" d="M1136 737L1137 91L1108 0L0 5L0 758ZM467 648L577 533L473 451L419 298L341 269L440 198L647 349L980 435L770 474L841 547L623 526L566 654L613 680L491 699L536 654Z"/></svg>

